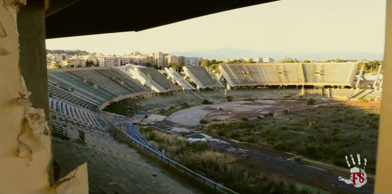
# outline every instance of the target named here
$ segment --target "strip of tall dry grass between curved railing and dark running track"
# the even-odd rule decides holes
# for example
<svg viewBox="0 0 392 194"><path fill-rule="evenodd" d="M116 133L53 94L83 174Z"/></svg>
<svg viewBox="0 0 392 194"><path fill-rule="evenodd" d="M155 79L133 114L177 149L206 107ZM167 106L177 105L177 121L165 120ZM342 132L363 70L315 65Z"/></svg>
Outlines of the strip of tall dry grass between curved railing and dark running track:
<svg viewBox="0 0 392 194"><path fill-rule="evenodd" d="M277 178L270 178L264 174L254 174L250 169L240 165L236 157L217 152L205 143L191 143L171 134L163 134L150 128L141 130L150 143L154 143L158 150L165 150L165 154L180 160L191 170L207 170L220 175L219 181L239 193L309 193L308 190L298 190L294 184L286 183ZM214 178L214 177L207 177Z"/></svg>

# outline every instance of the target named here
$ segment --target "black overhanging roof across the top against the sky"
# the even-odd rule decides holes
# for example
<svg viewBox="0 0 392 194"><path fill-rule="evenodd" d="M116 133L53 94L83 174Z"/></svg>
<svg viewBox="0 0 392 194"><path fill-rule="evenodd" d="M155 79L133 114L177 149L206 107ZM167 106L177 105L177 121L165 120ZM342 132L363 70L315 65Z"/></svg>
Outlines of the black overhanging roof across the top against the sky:
<svg viewBox="0 0 392 194"><path fill-rule="evenodd" d="M46 38L141 31L276 0L47 0ZM190 29L178 29L186 33Z"/></svg>

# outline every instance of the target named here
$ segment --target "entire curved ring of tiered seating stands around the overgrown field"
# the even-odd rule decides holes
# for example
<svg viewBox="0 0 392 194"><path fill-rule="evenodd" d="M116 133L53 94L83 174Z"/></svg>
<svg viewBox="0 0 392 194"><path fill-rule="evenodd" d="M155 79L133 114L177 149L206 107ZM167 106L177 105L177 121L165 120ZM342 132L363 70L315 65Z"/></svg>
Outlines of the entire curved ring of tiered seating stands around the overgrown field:
<svg viewBox="0 0 392 194"><path fill-rule="evenodd" d="M379 75L381 71L377 75L365 76L362 75L363 68L358 70L357 66L352 63L222 64L219 68L221 70L219 77L223 78L223 83L227 85L227 88L231 89L260 85L351 87L341 87L339 89L335 89L335 87L320 87L307 89L306 92L304 87L301 87L301 90L284 87L274 87L270 88L271 90L232 90L230 95L236 99L255 99L252 97L255 96L255 93L258 93L260 99L266 97L279 99L287 96L343 100L360 99L363 97L380 99L381 97L380 90L354 90L354 86L363 86L370 82L376 83L374 88L381 88L382 75ZM166 76L154 68L131 64L118 68L90 67L48 70L49 116L51 117L51 132L53 137L56 138L54 146L56 149L66 149L64 153L57 153L55 159L65 163L62 164L62 167L74 168L77 166L78 158L71 158L69 161L64 161L62 158L67 154L78 153L86 156L88 160L93 160L94 155L88 154L89 152L101 152L103 147L107 147L116 152L116 156L118 155L124 161L134 163L137 160L140 165L143 165L141 160L127 155L134 151L125 146L124 143L127 142L125 139L128 138L129 140L132 138L129 141L132 141L133 144L139 146L145 152L161 158L163 162L174 163L174 161L165 157L163 150L158 150L154 143L150 143L140 134L136 115L134 115L132 121L130 117L105 112L102 109L113 101L130 97L143 97L135 99L135 102L141 104L138 108L141 110L141 116L147 116L150 112L162 114L162 110L170 110L170 108L175 108L185 102L197 105L204 99L207 99L210 101L209 103L221 104L220 100L226 98L226 94L223 95L223 91L215 91L224 88L224 85L208 68L184 66L183 70L185 77L182 77L179 72L172 68L165 68ZM358 73L360 75L356 75ZM192 84L196 84L198 90ZM214 90L199 91L204 88L212 88ZM173 93L181 89L190 92L156 97L152 95L154 92ZM144 95L146 96L144 97ZM217 95L221 96L216 97ZM170 108L168 109L168 107ZM151 120L152 123L154 123L153 120ZM150 120L147 119L144 122L150 122ZM83 133L83 138L79 136L81 133ZM86 149L79 149L73 144L61 143L62 140L68 141L76 138L82 139L83 142L87 143L85 145ZM110 152L108 151L107 153ZM104 160L104 163L113 163L113 160L109 159L109 157L105 157ZM90 163L94 168L106 169L105 165L98 162L93 161ZM131 166L126 164L121 168L130 168ZM116 165L110 165L110 168L120 169ZM98 192L102 190L124 191L129 189L127 185L118 185L118 187L114 188L108 185L109 183L103 184L98 181L99 178L108 181L113 177L115 177L115 174L105 173L95 176L94 181L89 180L89 182L96 181L92 188ZM123 175L123 177L132 181L136 179L127 175ZM227 189L220 185L214 187Z"/></svg>

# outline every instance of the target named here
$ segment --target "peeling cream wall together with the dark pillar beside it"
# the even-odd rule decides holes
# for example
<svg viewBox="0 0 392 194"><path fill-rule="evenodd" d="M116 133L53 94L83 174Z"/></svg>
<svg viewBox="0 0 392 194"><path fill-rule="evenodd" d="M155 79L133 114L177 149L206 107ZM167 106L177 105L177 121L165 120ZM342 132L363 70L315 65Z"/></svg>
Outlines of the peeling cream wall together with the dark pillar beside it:
<svg viewBox="0 0 392 194"><path fill-rule="evenodd" d="M0 0L0 193L88 193L86 163L51 181L46 69L40 64L46 55L44 4L37 2L24 10L30 25L21 26L19 38L18 11L29 1Z"/></svg>

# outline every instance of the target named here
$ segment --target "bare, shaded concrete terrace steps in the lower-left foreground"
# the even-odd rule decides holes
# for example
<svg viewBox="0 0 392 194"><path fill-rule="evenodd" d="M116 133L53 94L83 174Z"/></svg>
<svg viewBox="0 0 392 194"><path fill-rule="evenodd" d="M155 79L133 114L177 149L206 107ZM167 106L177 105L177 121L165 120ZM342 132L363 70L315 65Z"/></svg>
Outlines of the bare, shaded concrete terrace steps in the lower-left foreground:
<svg viewBox="0 0 392 194"><path fill-rule="evenodd" d="M60 177L87 161L89 193L200 193L113 137L86 132L83 144L75 126L70 126L68 136L69 141L53 141L53 159Z"/></svg>

